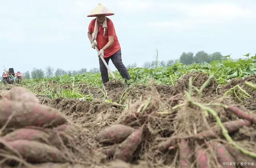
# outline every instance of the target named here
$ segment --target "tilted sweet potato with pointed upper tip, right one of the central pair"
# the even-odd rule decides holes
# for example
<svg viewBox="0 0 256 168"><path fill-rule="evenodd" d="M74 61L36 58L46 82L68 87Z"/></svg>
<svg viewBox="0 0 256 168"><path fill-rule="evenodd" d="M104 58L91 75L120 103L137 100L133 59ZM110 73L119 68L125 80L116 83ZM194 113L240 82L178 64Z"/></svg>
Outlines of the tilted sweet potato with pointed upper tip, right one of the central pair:
<svg viewBox="0 0 256 168"><path fill-rule="evenodd" d="M143 126L132 132L126 140L118 145L114 158L130 162L134 152L136 151L139 144L142 142Z"/></svg>

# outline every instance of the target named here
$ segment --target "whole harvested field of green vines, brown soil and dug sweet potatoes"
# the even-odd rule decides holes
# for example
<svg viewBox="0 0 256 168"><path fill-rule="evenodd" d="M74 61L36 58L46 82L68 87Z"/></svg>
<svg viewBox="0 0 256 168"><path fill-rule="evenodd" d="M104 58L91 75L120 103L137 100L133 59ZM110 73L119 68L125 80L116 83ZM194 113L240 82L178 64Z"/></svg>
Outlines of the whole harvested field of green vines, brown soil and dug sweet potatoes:
<svg viewBox="0 0 256 168"><path fill-rule="evenodd" d="M3 140L18 152L34 152L20 152L27 161L10 148L11 154L1 156L12 159L9 166L22 162L24 168L256 167L255 58L129 69L129 87L118 81L103 87L98 73L1 83L1 112L20 105L18 111L27 107L32 114L25 119L10 114L10 126L1 129ZM13 93L14 87L28 89L36 99L24 91L26 97ZM43 128L44 120L48 125ZM28 140L47 139L54 150L41 152L36 145L4 138L26 126L47 132ZM16 133L12 140L22 136ZM34 162L34 155L45 163Z"/></svg>

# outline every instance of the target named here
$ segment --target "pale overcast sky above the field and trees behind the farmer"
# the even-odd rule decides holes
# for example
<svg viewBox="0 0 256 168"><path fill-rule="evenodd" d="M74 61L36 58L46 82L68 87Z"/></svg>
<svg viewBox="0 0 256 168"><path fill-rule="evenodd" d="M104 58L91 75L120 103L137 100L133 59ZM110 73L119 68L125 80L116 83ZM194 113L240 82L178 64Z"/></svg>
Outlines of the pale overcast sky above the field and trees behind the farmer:
<svg viewBox="0 0 256 168"><path fill-rule="evenodd" d="M182 52L256 53L255 0L0 0L0 66L15 71L98 67L87 14L103 4L125 65L178 58ZM116 70L110 61L110 68Z"/></svg>

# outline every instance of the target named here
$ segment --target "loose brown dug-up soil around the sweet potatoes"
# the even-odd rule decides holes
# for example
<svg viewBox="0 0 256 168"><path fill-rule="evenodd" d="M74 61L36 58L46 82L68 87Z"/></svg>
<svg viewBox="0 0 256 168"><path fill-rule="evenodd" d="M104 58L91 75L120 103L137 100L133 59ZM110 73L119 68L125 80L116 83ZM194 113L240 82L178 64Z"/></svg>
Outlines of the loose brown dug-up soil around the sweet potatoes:
<svg viewBox="0 0 256 168"><path fill-rule="evenodd" d="M91 162L91 164L92 162L94 164L97 163L95 168L181 167L180 162L176 158L178 156L178 153L176 153L178 151L177 146L170 146L169 150L163 153L156 152L156 146L167 140L170 136L188 136L195 132L198 133L208 130L209 126L216 125L216 119L211 114L209 114L209 117L205 117L204 111L198 107L187 105L180 108L177 107L181 103L186 103L187 98L184 96L184 91L188 91L190 77L192 77L192 85L197 89L200 89L208 79L208 75L204 73L191 72L178 79L174 86L156 85L154 83L150 83L149 86L135 85L131 87L126 87L121 83L117 83L117 85L108 83L105 89L88 87L85 84L77 86L80 93L91 95L93 97L92 101L67 98L50 99L42 95L38 95L37 97L40 103L59 109L66 115L70 123L78 126L72 131L79 134L80 140L84 140L87 143L87 145L80 145L79 148L85 151L85 153L86 151L87 154L89 153L87 157L94 157L87 161ZM250 75L245 79L232 79L228 84L222 86L218 86L215 79L212 79L203 90L201 97L196 97L196 91L195 89L193 90L192 101L233 105L246 113L256 113L256 91L246 86L244 81L256 83L256 75ZM226 91L236 85L239 85L251 97L242 99L241 102L234 93L224 96ZM64 89L68 89L70 86L62 85ZM0 91L10 88L11 86L5 86L4 88L0 88ZM107 101L110 99L112 102ZM126 103L127 108L124 109L124 104ZM174 107L175 110L173 109ZM223 107L213 106L211 108L218 114L222 123L238 120L236 115L228 113ZM158 114L158 112L162 114ZM131 115L136 115L137 118L134 119ZM127 117L130 117L129 121L126 120ZM136 148L136 152L133 153L134 158L131 163L120 160L107 160L105 155L98 156L97 152L93 152L104 146L96 141L98 132L113 124L128 125L136 129L147 125L147 136L144 136L141 144ZM236 132L230 133L230 136L246 150L251 152L256 151L255 125L243 126ZM216 135L215 139L225 140L221 135ZM194 148L195 141L194 139L190 139L191 149ZM197 142L204 144L202 140L198 140ZM172 147L174 147L174 150L171 149ZM217 167L214 162L214 154L209 154L209 158L211 160L208 163L209 167ZM194 160L194 158L191 158L191 160ZM254 159L254 164L256 164L255 161ZM60 167L68 168L71 166L60 165ZM93 168L93 166L91 167Z"/></svg>

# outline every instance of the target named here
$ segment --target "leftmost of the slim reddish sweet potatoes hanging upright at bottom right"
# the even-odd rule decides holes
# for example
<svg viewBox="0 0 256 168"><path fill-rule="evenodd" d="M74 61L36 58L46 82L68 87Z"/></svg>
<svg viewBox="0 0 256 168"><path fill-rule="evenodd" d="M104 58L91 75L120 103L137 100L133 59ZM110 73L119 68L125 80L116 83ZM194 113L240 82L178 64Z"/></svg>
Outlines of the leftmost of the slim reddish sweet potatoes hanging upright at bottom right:
<svg viewBox="0 0 256 168"><path fill-rule="evenodd" d="M180 164L182 165L182 168L190 168L192 165L189 161L190 156L190 147L188 146L188 142L186 140L182 139L179 145L179 152L180 152Z"/></svg>

